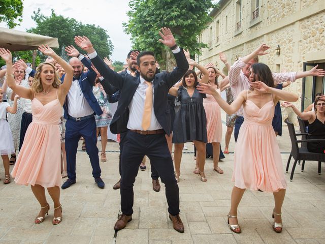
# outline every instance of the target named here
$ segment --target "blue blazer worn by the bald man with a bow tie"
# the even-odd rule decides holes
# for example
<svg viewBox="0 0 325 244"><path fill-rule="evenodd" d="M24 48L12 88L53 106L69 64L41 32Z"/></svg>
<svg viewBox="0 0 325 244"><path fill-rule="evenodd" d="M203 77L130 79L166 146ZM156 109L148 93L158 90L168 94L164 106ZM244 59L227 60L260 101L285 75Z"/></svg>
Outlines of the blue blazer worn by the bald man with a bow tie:
<svg viewBox="0 0 325 244"><path fill-rule="evenodd" d="M92 93L92 86L95 82L97 74L91 69L91 62L88 58L84 57L81 59L81 62L86 66L89 71L86 73L81 73L81 76L79 78L79 85L81 88L81 92L85 99L87 100L88 104L92 108L95 114L101 115L103 113L102 108L98 104L97 99ZM63 82L64 80L64 75L61 78L61 81ZM68 119L68 102L67 102L68 96L66 97L66 102L63 104L63 109L64 109L64 118Z"/></svg>

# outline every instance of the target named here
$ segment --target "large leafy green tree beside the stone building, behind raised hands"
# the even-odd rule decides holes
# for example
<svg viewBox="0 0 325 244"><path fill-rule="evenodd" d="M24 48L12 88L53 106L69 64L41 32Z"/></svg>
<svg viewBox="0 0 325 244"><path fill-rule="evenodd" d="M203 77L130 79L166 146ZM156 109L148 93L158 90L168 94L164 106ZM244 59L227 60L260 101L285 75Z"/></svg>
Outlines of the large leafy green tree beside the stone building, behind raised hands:
<svg viewBox="0 0 325 244"><path fill-rule="evenodd" d="M154 51L159 64L167 70L173 68L175 60L170 50L158 42L161 27L170 28L177 43L191 54L199 54L201 48L207 47L198 42L198 35L212 19L209 12L216 5L211 0L131 0L129 7L129 19L123 26L134 48Z"/></svg>

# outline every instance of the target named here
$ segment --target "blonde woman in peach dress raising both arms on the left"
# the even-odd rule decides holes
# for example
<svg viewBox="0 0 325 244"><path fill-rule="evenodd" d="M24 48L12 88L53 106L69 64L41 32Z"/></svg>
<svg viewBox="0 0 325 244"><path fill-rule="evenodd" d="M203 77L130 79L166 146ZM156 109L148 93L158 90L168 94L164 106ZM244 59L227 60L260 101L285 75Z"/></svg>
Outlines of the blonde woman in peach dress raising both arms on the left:
<svg viewBox="0 0 325 244"><path fill-rule="evenodd" d="M32 123L29 125L24 138L24 144L11 175L15 182L30 185L35 197L41 204L41 211L35 219L35 224L44 221L50 205L47 203L45 189L54 202L53 225L62 221L60 204L60 132L59 119L62 105L66 98L73 78L73 68L60 58L48 46L40 46L39 50L53 57L67 74L64 83L50 63L40 64L37 68L31 88L17 85L12 74L12 55L9 50L0 48L0 56L7 64L7 82L14 92L22 98L30 99Z"/></svg>

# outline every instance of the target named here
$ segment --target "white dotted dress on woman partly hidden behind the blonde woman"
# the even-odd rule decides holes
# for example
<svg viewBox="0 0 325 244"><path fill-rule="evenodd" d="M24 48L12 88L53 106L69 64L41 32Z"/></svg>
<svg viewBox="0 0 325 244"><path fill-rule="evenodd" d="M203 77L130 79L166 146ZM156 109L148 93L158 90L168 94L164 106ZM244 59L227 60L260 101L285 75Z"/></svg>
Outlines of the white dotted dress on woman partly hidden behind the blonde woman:
<svg viewBox="0 0 325 244"><path fill-rule="evenodd" d="M23 85L25 87L29 87L26 79L21 81L21 85ZM13 90L10 87L8 87L7 88L7 98L8 98L8 103L11 106L14 103L14 101L10 100L12 93L13 93ZM22 118L22 114L24 113L24 106L25 106L25 99L20 98L17 100L17 112L14 114L8 113L8 123L9 123L10 129L11 129L11 132L12 132L12 137L14 140L14 147L16 150L19 149L21 118Z"/></svg>

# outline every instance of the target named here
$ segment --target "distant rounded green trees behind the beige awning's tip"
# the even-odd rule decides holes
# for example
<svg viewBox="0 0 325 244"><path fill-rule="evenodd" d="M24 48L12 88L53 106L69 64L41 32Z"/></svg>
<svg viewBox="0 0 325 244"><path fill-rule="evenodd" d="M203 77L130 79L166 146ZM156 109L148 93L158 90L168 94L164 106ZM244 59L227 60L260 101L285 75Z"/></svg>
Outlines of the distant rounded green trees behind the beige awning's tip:
<svg viewBox="0 0 325 244"><path fill-rule="evenodd" d="M102 57L110 56L113 52L113 44L105 29L94 24L82 24L74 18L66 18L62 15L56 15L52 9L50 16L44 16L41 10L34 11L31 17L36 23L35 28L28 29L28 32L44 36L56 37L59 42L59 49L55 50L58 55L65 55L64 48L68 45L74 45L75 36L87 36L91 39L96 48L96 52ZM81 53L84 53L79 47L74 45Z"/></svg>

